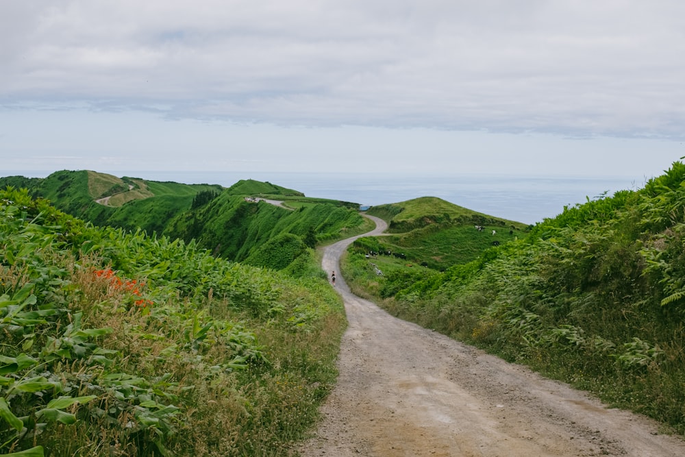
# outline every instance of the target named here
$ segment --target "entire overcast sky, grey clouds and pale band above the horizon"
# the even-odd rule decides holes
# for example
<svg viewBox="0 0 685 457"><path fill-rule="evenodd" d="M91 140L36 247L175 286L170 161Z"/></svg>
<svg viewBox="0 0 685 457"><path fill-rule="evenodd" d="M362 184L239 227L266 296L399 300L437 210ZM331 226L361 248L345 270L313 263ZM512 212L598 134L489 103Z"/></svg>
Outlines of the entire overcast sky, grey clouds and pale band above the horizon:
<svg viewBox="0 0 685 457"><path fill-rule="evenodd" d="M0 2L0 175L651 177L685 156L685 2Z"/></svg>

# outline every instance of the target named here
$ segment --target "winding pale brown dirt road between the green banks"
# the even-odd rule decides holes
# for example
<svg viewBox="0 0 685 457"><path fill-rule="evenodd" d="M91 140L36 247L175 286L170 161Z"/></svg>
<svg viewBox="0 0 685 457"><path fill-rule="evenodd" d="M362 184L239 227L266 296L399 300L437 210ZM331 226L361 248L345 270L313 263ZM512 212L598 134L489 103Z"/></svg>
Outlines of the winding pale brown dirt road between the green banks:
<svg viewBox="0 0 685 457"><path fill-rule="evenodd" d="M385 223L375 219L377 229ZM353 238L327 247L323 268ZM340 378L302 456L685 456L657 423L390 316L349 292Z"/></svg>

